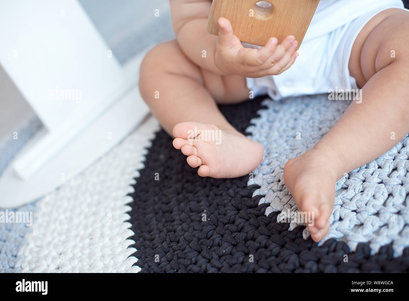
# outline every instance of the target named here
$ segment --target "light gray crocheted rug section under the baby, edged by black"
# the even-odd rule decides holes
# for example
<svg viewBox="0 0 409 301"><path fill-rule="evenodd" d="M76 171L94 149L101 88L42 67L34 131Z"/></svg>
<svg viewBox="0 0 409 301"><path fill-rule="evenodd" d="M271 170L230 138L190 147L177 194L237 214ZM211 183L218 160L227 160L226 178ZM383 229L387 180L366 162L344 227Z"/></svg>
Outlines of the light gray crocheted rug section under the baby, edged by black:
<svg viewBox="0 0 409 301"><path fill-rule="evenodd" d="M292 157L312 148L335 124L350 101L330 101L327 95L298 97L283 101L266 99L267 108L258 112L254 126L247 132L261 143L265 155L248 184L265 195L261 203L270 203L265 211L281 212L277 221L297 211L294 198L285 187L283 168ZM330 230L321 243L336 238L355 250L358 243L369 243L372 253L392 243L394 256L409 246L409 136L378 159L352 171L336 185L335 207ZM325 175L323 175L325 176ZM290 230L297 227L290 223ZM307 229L304 238L309 236Z"/></svg>

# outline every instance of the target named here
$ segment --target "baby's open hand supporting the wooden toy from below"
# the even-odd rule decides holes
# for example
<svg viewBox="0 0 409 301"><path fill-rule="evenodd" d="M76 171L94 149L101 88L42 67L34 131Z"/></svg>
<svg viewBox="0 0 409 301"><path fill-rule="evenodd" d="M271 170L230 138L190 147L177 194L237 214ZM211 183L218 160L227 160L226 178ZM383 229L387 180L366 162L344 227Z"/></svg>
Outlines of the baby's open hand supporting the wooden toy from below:
<svg viewBox="0 0 409 301"><path fill-rule="evenodd" d="M276 38L270 38L261 49L245 48L233 34L229 20L219 18L218 22L215 62L222 74L252 78L277 75L290 68L298 56L294 36L287 36L280 45Z"/></svg>

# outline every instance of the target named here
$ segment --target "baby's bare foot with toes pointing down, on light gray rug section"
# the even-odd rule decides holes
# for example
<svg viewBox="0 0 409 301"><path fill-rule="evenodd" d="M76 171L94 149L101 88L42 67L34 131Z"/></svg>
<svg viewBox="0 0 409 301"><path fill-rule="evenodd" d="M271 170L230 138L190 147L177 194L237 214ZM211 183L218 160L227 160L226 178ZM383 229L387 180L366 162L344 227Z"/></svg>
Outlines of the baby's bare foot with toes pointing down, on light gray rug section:
<svg viewBox="0 0 409 301"><path fill-rule="evenodd" d="M298 210L314 212L313 225L307 225L314 241L328 233L329 218L334 208L335 183L339 178L337 160L330 150L312 148L305 154L290 159L284 166L284 182L294 197Z"/></svg>

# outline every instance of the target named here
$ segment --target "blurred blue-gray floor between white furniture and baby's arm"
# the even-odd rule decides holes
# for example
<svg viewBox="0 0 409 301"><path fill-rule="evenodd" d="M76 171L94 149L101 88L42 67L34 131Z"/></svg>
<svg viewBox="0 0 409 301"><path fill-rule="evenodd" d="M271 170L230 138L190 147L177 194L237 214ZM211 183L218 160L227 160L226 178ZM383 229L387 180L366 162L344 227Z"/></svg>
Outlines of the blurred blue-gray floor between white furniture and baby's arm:
<svg viewBox="0 0 409 301"><path fill-rule="evenodd" d="M79 0L121 64L173 38L169 1Z"/></svg>

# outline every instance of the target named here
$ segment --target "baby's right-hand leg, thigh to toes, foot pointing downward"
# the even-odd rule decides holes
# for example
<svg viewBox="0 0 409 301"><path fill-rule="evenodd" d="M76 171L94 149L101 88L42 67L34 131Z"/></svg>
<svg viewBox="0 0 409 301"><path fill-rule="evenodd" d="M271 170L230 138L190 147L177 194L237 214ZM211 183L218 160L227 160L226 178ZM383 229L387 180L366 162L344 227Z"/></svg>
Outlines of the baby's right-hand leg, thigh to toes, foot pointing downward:
<svg viewBox="0 0 409 301"><path fill-rule="evenodd" d="M335 126L305 154L291 159L284 180L300 211L314 211L315 241L328 232L335 182L386 153L409 132L409 13L375 16L355 40L350 72L362 89ZM391 56L395 54L396 57Z"/></svg>

